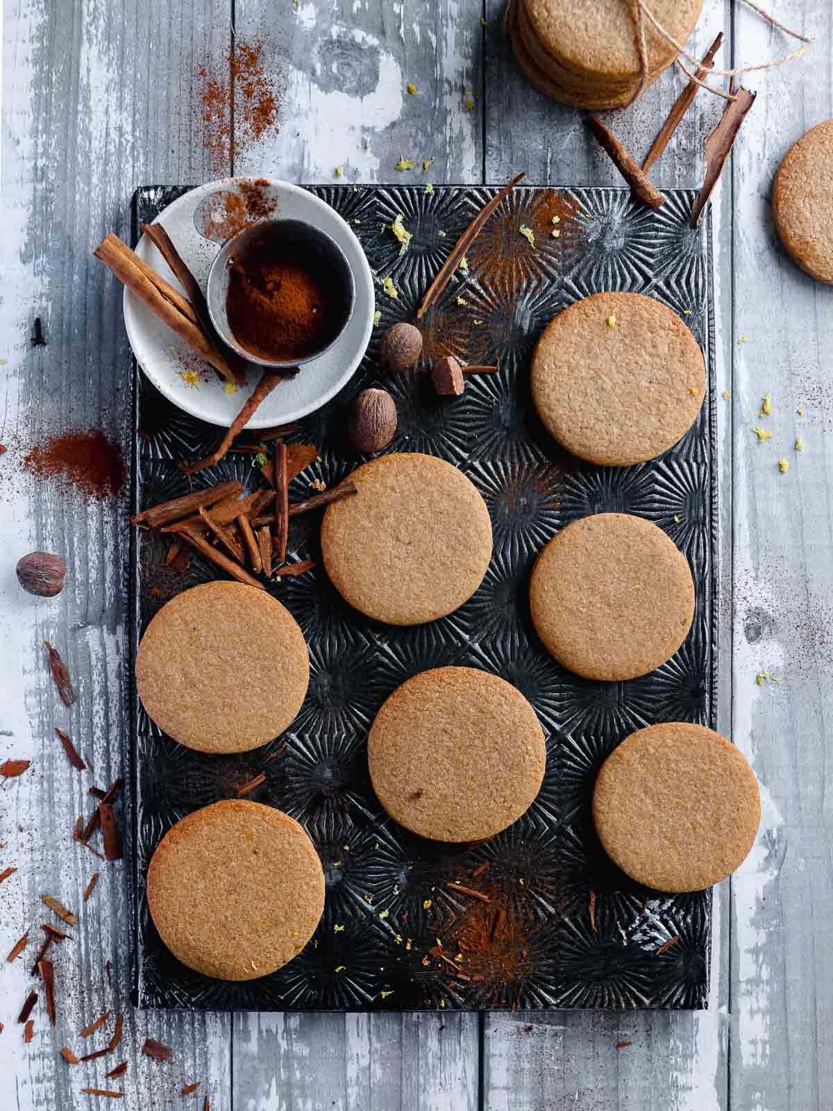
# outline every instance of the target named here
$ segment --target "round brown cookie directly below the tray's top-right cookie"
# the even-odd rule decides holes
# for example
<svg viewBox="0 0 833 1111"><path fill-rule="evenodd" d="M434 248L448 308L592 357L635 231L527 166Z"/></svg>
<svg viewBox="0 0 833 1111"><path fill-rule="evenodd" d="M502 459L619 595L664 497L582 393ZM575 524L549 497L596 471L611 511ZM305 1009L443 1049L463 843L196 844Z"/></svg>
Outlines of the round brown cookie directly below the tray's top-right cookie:
<svg viewBox="0 0 833 1111"><path fill-rule="evenodd" d="M530 610L545 648L568 670L635 679L685 640L694 583L662 529L628 513L596 513L568 524L538 557Z"/></svg>

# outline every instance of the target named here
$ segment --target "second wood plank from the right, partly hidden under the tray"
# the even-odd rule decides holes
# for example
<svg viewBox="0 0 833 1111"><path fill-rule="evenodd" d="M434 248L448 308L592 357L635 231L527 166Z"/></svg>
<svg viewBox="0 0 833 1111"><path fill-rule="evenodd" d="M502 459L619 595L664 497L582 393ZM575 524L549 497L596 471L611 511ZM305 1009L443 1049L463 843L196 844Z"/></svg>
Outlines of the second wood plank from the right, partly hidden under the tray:
<svg viewBox="0 0 833 1111"><path fill-rule="evenodd" d="M503 6L490 0L486 54L486 174L503 181L525 169L536 183L613 184L621 178L585 131L579 112L531 88L502 32ZM730 64L731 22L723 0L706 0L692 36L702 54L719 30ZM669 71L629 109L605 113L638 159L653 142L683 78ZM660 187L695 187L702 178L702 143L722 102L701 93L651 171ZM717 391L731 372L731 196L713 208ZM729 411L719 409L721 444L721 590L731 598L731 439ZM731 637L721 630L719 728L730 731ZM488 1111L596 1108L629 1111L719 1111L727 1105L729 884L715 890L711 1007L707 1012L608 1014L561 1011L549 1015L493 1014L485 1023L484 1101ZM530 1030L529 1028L532 1027ZM632 1048L616 1052L620 1041Z"/></svg>

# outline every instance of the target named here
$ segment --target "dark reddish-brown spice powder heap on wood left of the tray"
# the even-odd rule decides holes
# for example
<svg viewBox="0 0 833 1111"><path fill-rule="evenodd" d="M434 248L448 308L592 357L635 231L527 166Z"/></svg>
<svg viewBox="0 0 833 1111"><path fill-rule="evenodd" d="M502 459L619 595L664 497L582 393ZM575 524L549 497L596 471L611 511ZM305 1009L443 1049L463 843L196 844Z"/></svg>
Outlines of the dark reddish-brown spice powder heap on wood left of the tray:
<svg viewBox="0 0 833 1111"><path fill-rule="evenodd" d="M102 501L121 491L124 460L118 443L100 429L72 430L52 437L23 457L23 469L54 482L67 492L78 491Z"/></svg>

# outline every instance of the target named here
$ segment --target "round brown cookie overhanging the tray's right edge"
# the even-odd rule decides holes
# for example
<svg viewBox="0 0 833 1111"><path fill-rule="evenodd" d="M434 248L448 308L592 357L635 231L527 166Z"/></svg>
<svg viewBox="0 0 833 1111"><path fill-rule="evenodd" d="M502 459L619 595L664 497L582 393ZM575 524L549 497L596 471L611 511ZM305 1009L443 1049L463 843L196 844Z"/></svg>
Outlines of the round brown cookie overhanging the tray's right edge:
<svg viewBox="0 0 833 1111"><path fill-rule="evenodd" d="M631 733L602 764L593 820L608 855L658 891L702 891L741 864L761 821L754 772L720 733L673 721Z"/></svg>

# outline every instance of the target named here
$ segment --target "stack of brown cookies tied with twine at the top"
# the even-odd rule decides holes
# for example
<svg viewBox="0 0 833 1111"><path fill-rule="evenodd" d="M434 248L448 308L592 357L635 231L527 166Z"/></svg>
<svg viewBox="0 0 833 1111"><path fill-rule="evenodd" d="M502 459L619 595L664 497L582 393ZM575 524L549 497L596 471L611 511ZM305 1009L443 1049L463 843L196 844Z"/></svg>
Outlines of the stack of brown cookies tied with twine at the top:
<svg viewBox="0 0 833 1111"><path fill-rule="evenodd" d="M656 21L676 42L691 34L702 0L651 0ZM562 104L622 108L639 94L639 9L634 0L509 0L506 33L530 81ZM642 17L646 86L676 58L676 49Z"/></svg>

